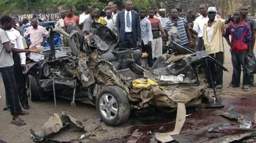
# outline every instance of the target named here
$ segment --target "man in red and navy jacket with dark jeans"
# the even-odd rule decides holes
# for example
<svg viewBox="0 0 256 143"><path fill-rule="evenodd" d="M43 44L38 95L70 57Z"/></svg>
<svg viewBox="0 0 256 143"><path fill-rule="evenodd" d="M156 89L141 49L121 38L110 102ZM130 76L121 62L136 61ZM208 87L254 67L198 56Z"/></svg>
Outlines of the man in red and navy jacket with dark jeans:
<svg viewBox="0 0 256 143"><path fill-rule="evenodd" d="M233 64L232 81L227 87L239 87L242 66L244 69L242 89L244 91L249 91L251 85L250 75L246 72L245 61L246 56L251 56L253 54L252 31L247 23L240 20L240 15L240 11L235 11L233 22L229 23L228 28L223 33L223 36L231 47L231 60ZM229 40L229 35L231 35L231 41Z"/></svg>

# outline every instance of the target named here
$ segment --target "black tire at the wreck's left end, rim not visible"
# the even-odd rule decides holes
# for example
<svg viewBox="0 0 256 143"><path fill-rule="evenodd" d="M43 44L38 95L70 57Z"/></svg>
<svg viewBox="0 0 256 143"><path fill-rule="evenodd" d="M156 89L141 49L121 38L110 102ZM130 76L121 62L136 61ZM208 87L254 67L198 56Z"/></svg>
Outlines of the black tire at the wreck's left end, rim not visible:
<svg viewBox="0 0 256 143"><path fill-rule="evenodd" d="M37 79L33 75L28 75L29 77L29 95L30 100L35 102L40 100L41 91L39 89L39 85L37 83Z"/></svg>

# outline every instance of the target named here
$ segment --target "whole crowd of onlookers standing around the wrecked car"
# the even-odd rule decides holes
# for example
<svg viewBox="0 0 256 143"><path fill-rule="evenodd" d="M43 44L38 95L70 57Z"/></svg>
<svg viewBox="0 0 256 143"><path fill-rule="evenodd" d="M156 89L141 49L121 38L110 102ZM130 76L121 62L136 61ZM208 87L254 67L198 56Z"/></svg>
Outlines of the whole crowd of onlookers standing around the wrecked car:
<svg viewBox="0 0 256 143"><path fill-rule="evenodd" d="M177 35L176 42L190 47L196 51L205 50L208 55L223 64L224 45L223 38L231 48L231 59L233 64L233 76L228 88L240 86L241 67L243 72L242 90L248 91L251 86L256 86L254 76L246 72L246 57L253 55L255 43L256 21L248 17L248 6L241 6L229 18L221 19L215 7L208 7L206 4L199 6L200 13L193 14L192 11L185 13L177 9L171 9L169 21L162 26L161 16L156 5L150 9L134 9L133 3L127 0L124 9L118 11L118 7L113 2L100 11L98 8L84 6L84 12L78 17L74 15L72 8L60 11L61 19L55 26L70 33L74 27L82 30L83 34L90 34L93 23L101 23L110 28L119 40L120 48L140 47L142 52L147 53L147 62L152 67L157 58L163 55L163 40L169 38L169 34ZM12 124L17 126L26 123L19 118L19 115L28 115L22 111L29 109L27 93L25 87L26 56L24 52L38 52L43 47L48 38L48 32L38 25L41 19L34 15L29 26L24 33L21 29L29 23L28 19L15 21L9 16L0 19L0 72L6 90L6 107L10 108L13 115ZM169 32L171 31L171 32ZM21 36L23 35L23 36ZM231 41L229 36L231 35ZM24 38L30 37L29 49ZM207 71L207 79L213 78L210 87L216 87L217 91L223 88L223 70L210 64ZM228 80L228 79L225 79Z"/></svg>

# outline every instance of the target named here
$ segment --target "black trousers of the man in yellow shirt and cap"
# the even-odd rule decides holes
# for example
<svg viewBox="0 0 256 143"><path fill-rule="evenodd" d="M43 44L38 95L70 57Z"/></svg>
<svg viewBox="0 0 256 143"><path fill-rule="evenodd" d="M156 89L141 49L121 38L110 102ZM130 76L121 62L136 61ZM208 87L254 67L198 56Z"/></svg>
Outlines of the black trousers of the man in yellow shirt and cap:
<svg viewBox="0 0 256 143"><path fill-rule="evenodd" d="M215 55L215 56L214 56ZM210 56L214 57L215 60L220 62L223 65L223 52L210 54ZM211 83L211 77L213 78L213 83L216 88L222 88L223 84L223 70L220 66L217 66L216 64L209 63L208 69L207 69L207 80L210 85Z"/></svg>

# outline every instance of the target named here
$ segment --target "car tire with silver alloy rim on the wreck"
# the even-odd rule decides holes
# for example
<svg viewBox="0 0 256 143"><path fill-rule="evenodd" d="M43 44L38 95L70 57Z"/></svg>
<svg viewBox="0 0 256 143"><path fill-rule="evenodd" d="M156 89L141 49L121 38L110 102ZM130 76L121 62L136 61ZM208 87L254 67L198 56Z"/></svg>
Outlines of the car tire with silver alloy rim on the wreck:
<svg viewBox="0 0 256 143"><path fill-rule="evenodd" d="M105 87L96 99L97 113L110 126L126 121L130 116L130 103L126 92L120 87Z"/></svg>

